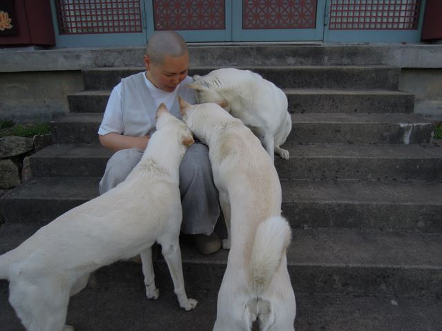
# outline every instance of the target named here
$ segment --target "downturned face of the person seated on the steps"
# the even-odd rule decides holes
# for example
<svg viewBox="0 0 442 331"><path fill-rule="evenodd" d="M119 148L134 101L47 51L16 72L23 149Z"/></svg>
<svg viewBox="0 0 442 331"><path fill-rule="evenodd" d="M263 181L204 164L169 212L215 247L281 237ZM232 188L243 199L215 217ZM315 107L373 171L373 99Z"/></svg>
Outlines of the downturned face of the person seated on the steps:
<svg viewBox="0 0 442 331"><path fill-rule="evenodd" d="M173 92L177 85L187 76L189 70L189 52L181 57L171 57L166 55L161 64L152 63L147 55L144 55L147 78L160 90Z"/></svg>

